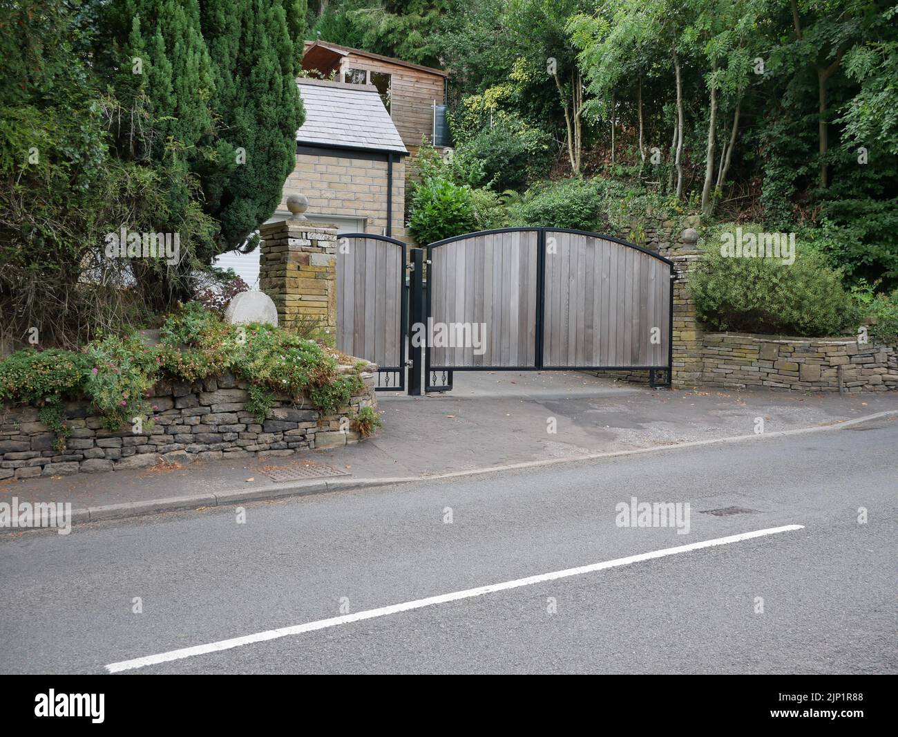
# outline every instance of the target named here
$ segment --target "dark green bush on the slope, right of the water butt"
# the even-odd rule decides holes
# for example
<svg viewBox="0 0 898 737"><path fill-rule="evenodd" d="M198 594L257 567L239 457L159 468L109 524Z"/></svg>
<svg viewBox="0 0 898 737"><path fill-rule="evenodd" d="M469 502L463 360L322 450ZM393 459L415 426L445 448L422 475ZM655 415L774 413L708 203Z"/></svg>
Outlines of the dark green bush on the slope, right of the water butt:
<svg viewBox="0 0 898 737"><path fill-rule="evenodd" d="M543 175L551 161L551 141L546 131L507 116L481 129L461 151L482 162L486 178L501 191L524 187Z"/></svg>

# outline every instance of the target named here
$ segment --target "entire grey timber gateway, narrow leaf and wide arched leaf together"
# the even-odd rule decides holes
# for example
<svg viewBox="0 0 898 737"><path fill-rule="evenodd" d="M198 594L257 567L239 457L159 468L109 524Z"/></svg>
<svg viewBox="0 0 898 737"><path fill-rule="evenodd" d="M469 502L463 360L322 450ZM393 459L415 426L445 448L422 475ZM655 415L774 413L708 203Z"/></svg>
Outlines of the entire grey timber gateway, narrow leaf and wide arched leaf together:
<svg viewBox="0 0 898 737"><path fill-rule="evenodd" d="M381 366L378 388L404 388L416 326L427 344L411 342L410 394L422 352L427 392L452 389L454 371L503 369L647 370L652 386L670 385L674 267L657 253L562 228L460 235L427 246L426 281L425 252L412 249L407 308L404 244L340 243L337 346Z"/></svg>

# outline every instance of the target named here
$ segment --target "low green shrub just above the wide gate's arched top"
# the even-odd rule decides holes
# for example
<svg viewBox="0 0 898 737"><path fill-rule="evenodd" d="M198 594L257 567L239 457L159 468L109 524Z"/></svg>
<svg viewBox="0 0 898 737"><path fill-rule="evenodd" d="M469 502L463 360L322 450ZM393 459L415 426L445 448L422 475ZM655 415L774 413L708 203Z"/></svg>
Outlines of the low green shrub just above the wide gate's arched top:
<svg viewBox="0 0 898 737"><path fill-rule="evenodd" d="M597 230L603 224L603 200L587 179L548 182L511 208L512 221L522 226Z"/></svg>

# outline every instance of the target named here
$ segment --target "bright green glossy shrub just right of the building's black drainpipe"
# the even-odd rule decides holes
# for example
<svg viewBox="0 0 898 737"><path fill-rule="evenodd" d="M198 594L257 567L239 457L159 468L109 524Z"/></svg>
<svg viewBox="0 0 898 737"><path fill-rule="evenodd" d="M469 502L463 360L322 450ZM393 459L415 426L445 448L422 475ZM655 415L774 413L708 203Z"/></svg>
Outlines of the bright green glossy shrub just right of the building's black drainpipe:
<svg viewBox="0 0 898 737"><path fill-rule="evenodd" d="M409 230L419 244L468 233L476 224L471 187L442 178L427 179L415 186Z"/></svg>

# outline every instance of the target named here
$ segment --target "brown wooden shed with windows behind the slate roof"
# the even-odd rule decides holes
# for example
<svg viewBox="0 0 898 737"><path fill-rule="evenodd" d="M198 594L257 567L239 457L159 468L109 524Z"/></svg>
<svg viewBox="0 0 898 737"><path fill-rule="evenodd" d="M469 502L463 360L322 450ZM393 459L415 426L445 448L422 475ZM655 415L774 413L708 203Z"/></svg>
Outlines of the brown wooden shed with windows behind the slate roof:
<svg viewBox="0 0 898 737"><path fill-rule="evenodd" d="M421 138L434 143L436 106L445 102L445 70L322 40L306 41L303 68L325 79L373 84L409 153L418 151Z"/></svg>

